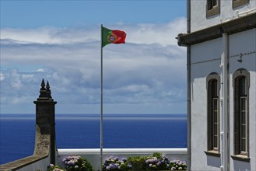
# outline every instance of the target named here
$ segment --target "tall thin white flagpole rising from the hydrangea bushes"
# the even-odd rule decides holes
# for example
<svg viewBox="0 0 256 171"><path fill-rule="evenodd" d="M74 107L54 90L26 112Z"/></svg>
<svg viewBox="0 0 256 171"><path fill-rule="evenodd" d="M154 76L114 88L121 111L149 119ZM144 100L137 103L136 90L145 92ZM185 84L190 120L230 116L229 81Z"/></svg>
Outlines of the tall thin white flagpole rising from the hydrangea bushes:
<svg viewBox="0 0 256 171"><path fill-rule="evenodd" d="M102 24L100 29L100 171L103 163L103 47L102 47Z"/></svg>

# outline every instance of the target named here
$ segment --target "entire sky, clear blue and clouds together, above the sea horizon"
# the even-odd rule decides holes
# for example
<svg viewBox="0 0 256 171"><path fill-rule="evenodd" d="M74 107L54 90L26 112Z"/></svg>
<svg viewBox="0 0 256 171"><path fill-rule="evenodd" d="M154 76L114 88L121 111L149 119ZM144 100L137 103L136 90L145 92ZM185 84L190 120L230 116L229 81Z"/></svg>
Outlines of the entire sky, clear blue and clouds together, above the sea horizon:
<svg viewBox="0 0 256 171"><path fill-rule="evenodd" d="M100 24L126 44L103 48L103 113L186 113L186 1L1 0L1 113L34 113L41 79L56 113L100 113Z"/></svg>

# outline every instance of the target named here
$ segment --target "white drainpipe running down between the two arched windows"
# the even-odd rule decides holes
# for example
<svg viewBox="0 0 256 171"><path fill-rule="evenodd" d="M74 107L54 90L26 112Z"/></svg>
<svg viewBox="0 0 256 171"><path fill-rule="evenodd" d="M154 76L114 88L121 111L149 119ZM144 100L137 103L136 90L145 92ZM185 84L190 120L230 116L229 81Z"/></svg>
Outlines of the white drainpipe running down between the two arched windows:
<svg viewBox="0 0 256 171"><path fill-rule="evenodd" d="M223 53L221 56L221 127L220 127L220 138L221 138L221 166L220 170L230 170L230 161L229 161L229 113L228 113L228 52L229 52L229 37L227 33L223 32L223 28L220 29L220 33L223 35Z"/></svg>

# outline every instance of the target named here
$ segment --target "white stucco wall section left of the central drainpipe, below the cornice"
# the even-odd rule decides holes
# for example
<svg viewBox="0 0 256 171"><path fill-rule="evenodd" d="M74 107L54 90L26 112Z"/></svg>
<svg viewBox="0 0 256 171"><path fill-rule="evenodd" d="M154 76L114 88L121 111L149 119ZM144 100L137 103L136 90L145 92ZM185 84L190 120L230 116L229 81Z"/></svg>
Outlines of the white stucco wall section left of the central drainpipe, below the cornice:
<svg viewBox="0 0 256 171"><path fill-rule="evenodd" d="M221 73L220 60L211 62L206 60L221 57L221 44L222 40L216 39L191 47L191 170L216 170L220 166L220 158L207 156L205 151L207 150L206 77L212 72L219 75Z"/></svg>

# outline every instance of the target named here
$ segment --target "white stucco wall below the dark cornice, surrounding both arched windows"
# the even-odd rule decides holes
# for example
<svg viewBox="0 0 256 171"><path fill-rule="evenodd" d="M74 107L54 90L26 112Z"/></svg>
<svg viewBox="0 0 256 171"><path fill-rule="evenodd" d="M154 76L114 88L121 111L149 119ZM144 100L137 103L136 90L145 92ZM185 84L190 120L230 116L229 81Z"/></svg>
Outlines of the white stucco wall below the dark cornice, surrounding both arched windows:
<svg viewBox="0 0 256 171"><path fill-rule="evenodd" d="M202 2L202 1L201 1ZM256 29L229 36L230 56L244 55L243 62L230 58L230 155L233 155L233 72L246 68L250 72L250 159L251 162L234 161L231 170L256 170ZM212 72L221 74L220 58L222 38L191 46L191 170L219 170L220 157L206 155L207 150L207 89L206 77ZM254 53L253 53L254 52ZM213 60L213 61L208 61Z"/></svg>

